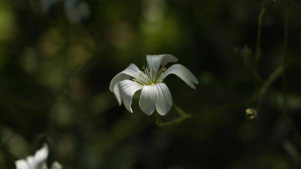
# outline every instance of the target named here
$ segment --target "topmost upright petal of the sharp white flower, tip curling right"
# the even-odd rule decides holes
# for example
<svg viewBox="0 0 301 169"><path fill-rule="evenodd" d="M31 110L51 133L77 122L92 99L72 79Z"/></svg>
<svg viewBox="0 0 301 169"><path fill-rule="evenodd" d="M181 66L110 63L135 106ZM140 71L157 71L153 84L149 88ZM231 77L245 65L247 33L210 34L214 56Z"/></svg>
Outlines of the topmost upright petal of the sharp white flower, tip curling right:
<svg viewBox="0 0 301 169"><path fill-rule="evenodd" d="M178 58L171 54L146 55L146 60L149 68L160 69L160 65L165 65L169 62L177 62Z"/></svg>

